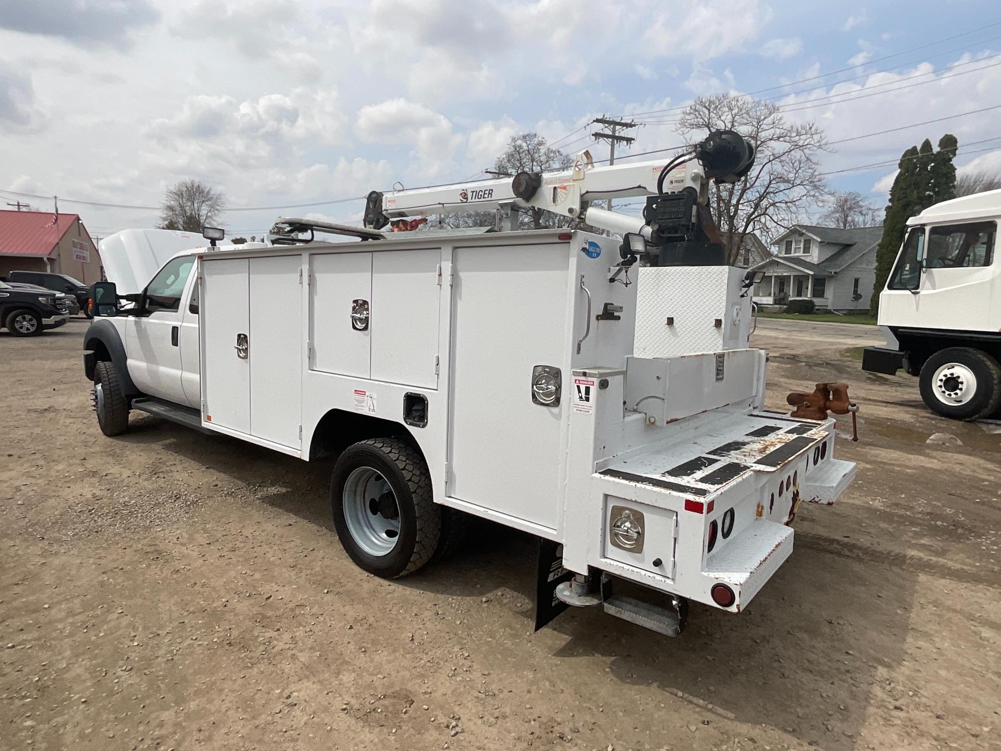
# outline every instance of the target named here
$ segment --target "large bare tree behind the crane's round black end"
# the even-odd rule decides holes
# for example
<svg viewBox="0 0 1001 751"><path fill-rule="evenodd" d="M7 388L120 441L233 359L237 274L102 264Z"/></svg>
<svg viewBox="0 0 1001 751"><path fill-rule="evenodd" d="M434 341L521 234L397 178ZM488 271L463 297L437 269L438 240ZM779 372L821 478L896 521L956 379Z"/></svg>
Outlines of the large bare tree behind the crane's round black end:
<svg viewBox="0 0 1001 751"><path fill-rule="evenodd" d="M826 144L817 124L790 122L771 102L731 94L699 97L678 122L690 143L720 128L736 130L757 149L746 177L711 188L713 216L727 239L727 262L734 264L749 233L773 236L828 194L818 160Z"/></svg>

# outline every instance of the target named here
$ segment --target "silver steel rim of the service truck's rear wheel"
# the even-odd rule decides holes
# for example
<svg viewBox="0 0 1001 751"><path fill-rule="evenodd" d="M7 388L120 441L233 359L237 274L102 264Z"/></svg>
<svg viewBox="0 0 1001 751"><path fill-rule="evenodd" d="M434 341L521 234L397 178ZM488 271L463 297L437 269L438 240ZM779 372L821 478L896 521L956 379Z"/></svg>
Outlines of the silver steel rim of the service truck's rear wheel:
<svg viewBox="0 0 1001 751"><path fill-rule="evenodd" d="M388 481L370 467L347 476L341 499L351 538L369 556L392 552L399 540L399 504Z"/></svg>

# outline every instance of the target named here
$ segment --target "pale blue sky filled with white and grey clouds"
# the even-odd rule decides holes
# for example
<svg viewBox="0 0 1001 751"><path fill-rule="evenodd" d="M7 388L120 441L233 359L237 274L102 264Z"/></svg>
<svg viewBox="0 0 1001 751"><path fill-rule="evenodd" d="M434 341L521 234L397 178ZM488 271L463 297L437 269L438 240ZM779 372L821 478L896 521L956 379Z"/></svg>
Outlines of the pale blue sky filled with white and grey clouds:
<svg viewBox="0 0 1001 751"><path fill-rule="evenodd" d="M361 202L341 199L471 179L518 132L573 152L593 143L593 117L633 115L633 151L676 145L678 108L721 91L823 125L825 169L878 165L832 185L877 202L894 173L880 163L947 131L959 164L1001 171L1001 8L907 6L0 0L0 189L58 194L95 235L152 226L185 177L232 209L324 202L230 210L231 233L279 214L357 223Z"/></svg>

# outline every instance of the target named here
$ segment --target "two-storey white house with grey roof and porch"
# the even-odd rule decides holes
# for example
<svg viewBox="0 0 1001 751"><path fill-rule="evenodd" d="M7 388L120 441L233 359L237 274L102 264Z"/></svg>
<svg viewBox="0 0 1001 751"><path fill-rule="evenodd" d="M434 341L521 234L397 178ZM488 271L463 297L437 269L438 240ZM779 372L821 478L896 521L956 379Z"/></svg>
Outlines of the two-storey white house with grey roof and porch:
<svg viewBox="0 0 1001 751"><path fill-rule="evenodd" d="M773 240L775 254L752 266L765 271L765 279L755 285L754 299L763 304L812 299L826 310L868 310L882 237L881 226L794 224Z"/></svg>

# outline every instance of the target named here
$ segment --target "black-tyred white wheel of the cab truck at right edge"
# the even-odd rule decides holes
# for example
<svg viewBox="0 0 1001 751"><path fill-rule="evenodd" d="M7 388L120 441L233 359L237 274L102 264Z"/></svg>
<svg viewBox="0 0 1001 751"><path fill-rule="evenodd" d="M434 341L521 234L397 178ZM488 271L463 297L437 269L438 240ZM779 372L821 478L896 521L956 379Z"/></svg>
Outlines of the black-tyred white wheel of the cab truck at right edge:
<svg viewBox="0 0 1001 751"><path fill-rule="evenodd" d="M921 399L944 418L977 420L1001 407L1001 366L990 354L953 346L921 366Z"/></svg>

